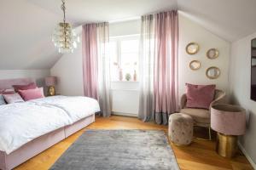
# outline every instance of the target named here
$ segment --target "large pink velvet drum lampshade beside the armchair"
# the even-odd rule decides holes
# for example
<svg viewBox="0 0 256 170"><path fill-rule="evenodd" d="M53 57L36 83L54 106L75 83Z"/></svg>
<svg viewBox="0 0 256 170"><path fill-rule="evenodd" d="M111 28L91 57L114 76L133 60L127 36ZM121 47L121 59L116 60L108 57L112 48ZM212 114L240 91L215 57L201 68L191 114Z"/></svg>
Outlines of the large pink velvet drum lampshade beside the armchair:
<svg viewBox="0 0 256 170"><path fill-rule="evenodd" d="M242 135L246 130L246 111L238 105L213 105L211 127L225 135Z"/></svg>

